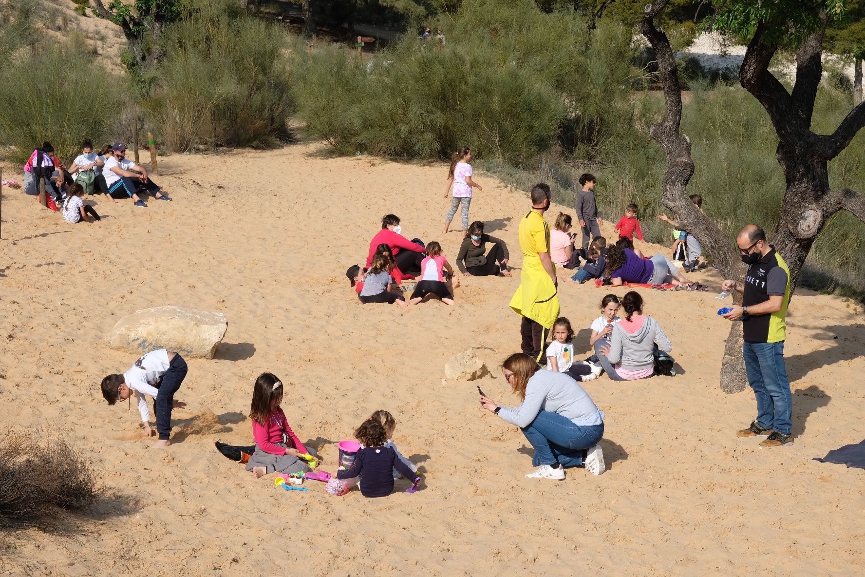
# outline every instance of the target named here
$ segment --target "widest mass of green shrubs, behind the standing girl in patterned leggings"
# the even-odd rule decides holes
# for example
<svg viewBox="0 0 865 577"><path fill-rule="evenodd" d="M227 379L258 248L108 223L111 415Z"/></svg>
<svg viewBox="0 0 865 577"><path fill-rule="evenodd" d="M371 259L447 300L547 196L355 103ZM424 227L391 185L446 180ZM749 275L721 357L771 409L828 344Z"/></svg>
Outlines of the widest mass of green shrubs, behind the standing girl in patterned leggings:
<svg viewBox="0 0 865 577"><path fill-rule="evenodd" d="M363 65L339 48L299 54L307 131L341 154L446 158L465 145L520 167L553 149L594 157L633 132L625 29L587 33L573 11L531 0L464 3L441 28L441 51L409 35Z"/></svg>

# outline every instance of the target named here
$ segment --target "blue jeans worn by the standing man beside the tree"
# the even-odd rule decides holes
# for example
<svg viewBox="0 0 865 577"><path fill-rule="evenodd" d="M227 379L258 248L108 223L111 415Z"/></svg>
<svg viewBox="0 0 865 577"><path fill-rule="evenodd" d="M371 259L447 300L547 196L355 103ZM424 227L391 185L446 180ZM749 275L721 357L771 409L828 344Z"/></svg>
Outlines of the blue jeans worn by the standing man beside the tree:
<svg viewBox="0 0 865 577"><path fill-rule="evenodd" d="M757 424L789 435L792 423L793 398L790 380L784 365L784 341L780 343L748 343L742 345L748 384L757 398Z"/></svg>

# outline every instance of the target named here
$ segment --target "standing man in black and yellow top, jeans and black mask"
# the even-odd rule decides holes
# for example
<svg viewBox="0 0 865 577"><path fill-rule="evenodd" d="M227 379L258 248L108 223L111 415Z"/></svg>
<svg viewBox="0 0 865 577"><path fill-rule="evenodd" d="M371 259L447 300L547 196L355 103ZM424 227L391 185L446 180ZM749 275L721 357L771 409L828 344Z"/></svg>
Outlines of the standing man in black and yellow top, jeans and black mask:
<svg viewBox="0 0 865 577"><path fill-rule="evenodd" d="M748 266L745 282L725 280L725 291L743 294L742 306L724 315L742 321L745 343L742 356L748 384L757 398L757 419L742 429L740 437L768 437L760 446L784 446L793 442L792 396L784 364L786 325L790 303L790 269L766 241L766 232L749 224L736 239L742 262Z"/></svg>

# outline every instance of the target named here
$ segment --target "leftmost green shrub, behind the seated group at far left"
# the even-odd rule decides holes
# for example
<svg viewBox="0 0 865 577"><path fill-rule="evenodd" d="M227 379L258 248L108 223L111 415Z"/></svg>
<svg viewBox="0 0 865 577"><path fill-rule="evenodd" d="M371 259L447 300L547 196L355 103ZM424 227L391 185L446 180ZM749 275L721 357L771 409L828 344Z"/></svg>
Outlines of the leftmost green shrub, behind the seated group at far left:
<svg viewBox="0 0 865 577"><path fill-rule="evenodd" d="M122 107L125 82L93 60L86 42L20 54L0 70L0 141L23 164L48 140L69 163L85 138L112 139L112 110Z"/></svg>

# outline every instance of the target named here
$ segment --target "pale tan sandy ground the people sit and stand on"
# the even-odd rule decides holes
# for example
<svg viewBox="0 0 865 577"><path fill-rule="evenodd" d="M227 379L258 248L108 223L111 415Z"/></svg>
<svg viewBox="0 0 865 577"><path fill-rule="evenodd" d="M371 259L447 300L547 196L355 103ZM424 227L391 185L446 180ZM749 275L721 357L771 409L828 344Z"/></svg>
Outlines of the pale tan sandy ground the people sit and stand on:
<svg viewBox="0 0 865 577"><path fill-rule="evenodd" d="M296 144L163 158L155 179L175 202L97 201L107 218L96 224L69 225L3 189L3 431L44 426L75 439L109 497L60 534L8 536L0 574L863 573L865 471L811 460L865 438L862 315L849 303L793 298L796 441L767 450L735 436L753 419L753 394L718 387L728 325L715 293L643 291L680 374L586 383L606 413L609 471L526 479L527 441L477 405L475 388L516 405L497 365L519 346L507 306L519 271L463 279L454 308L361 305L344 271L362 262L381 215L400 215L405 234L441 240L455 257L461 235L440 235L446 168L318 152ZM489 175L477 181L472 220L509 243L518 269L516 228L529 202ZM716 273L694 276L718 289ZM561 286L578 349L588 349L606 292ZM135 407L108 407L98 390L103 375L135 360L108 349L106 331L151 305L229 319L215 360L189 362L177 394L189 407L175 411L175 445L163 451L138 439ZM445 381L448 356L469 347L490 374ZM332 497L311 482L287 493L223 458L215 440L251 441L246 415L262 371L290 383L285 412L326 470L336 442L368 414L394 413L394 441L420 465L423 490L406 494L400 481L374 500L356 490Z"/></svg>

